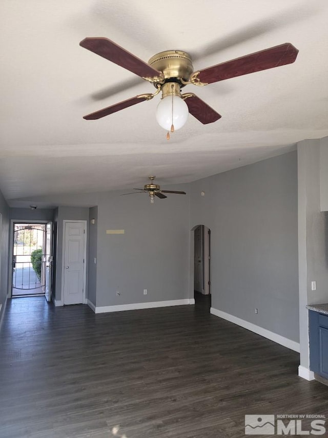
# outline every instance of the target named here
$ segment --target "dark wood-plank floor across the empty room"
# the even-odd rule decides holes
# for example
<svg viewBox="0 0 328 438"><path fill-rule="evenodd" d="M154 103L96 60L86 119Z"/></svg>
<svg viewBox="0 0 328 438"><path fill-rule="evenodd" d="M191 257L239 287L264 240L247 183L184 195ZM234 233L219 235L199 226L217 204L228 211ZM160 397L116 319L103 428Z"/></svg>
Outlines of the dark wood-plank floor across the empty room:
<svg viewBox="0 0 328 438"><path fill-rule="evenodd" d="M240 438L245 414L327 413L297 353L199 302L96 315L11 299L0 352L1 438Z"/></svg>

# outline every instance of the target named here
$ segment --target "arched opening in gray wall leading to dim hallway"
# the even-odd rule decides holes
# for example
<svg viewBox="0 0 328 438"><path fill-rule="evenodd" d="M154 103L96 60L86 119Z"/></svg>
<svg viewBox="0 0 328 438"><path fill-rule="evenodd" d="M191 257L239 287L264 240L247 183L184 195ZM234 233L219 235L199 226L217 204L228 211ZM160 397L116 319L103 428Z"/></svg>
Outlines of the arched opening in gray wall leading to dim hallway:
<svg viewBox="0 0 328 438"><path fill-rule="evenodd" d="M211 230L205 225L194 228L194 297L211 300Z"/></svg>

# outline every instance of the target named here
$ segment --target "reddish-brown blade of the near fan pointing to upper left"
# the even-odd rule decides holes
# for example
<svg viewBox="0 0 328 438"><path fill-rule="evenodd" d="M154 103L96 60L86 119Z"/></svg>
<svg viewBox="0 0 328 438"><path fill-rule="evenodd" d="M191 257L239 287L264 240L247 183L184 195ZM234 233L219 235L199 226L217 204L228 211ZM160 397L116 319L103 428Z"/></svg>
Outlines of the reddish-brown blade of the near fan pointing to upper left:
<svg viewBox="0 0 328 438"><path fill-rule="evenodd" d="M112 61L120 67L132 71L132 73L137 74L141 78L159 78L162 76L160 71L155 70L145 61L140 60L108 38L85 38L80 42L80 46L103 56L103 58Z"/></svg>

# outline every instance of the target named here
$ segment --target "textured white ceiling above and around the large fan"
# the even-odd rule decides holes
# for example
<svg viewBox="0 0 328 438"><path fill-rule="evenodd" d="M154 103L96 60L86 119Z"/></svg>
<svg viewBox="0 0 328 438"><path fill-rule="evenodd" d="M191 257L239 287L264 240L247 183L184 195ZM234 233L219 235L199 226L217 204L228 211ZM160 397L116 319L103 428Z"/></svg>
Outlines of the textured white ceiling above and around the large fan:
<svg viewBox="0 0 328 438"><path fill-rule="evenodd" d="M328 2L2 0L0 188L36 196L131 188L155 174L190 182L328 135ZM151 84L81 48L105 36L146 62L184 50L202 69L285 42L296 62L189 85L222 118L192 116L170 141L155 120L159 96L100 120L83 116Z"/></svg>

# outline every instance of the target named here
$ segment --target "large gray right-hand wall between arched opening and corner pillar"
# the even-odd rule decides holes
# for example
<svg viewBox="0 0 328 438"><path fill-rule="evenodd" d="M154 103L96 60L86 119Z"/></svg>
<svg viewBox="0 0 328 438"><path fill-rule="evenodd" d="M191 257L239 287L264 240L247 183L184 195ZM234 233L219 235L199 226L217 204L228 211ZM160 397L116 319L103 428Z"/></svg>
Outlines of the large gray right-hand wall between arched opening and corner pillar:
<svg viewBox="0 0 328 438"><path fill-rule="evenodd" d="M191 187L190 229L212 231L212 307L297 342L297 152Z"/></svg>

